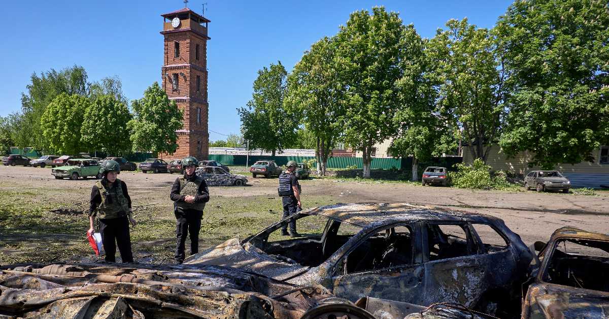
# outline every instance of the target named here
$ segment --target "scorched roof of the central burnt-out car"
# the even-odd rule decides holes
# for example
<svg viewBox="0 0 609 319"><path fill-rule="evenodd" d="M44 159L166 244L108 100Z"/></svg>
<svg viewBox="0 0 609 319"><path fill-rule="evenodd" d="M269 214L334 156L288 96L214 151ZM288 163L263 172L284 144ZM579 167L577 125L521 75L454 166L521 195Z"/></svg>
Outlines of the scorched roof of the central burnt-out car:
<svg viewBox="0 0 609 319"><path fill-rule="evenodd" d="M407 203L401 204L337 204L317 207L306 212L310 215L320 215L342 223L352 224L361 228L381 226L400 221L415 220L448 220L488 222L498 218L477 213L460 212L456 210L429 210L422 206Z"/></svg>

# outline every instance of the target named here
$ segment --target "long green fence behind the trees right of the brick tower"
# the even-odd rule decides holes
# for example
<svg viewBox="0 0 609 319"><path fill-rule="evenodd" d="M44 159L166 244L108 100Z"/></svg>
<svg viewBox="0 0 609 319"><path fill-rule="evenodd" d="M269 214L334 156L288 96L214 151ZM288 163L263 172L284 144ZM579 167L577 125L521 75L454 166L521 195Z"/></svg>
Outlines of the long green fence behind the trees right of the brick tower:
<svg viewBox="0 0 609 319"><path fill-rule="evenodd" d="M209 160L217 160L220 163L226 165L243 165L250 166L257 160L275 160L277 165L286 165L288 160L295 160L296 162L304 162L305 160L314 159L312 156L259 156L252 155L249 157L248 163L245 163L245 155L224 155L224 154L209 154ZM460 157L459 157L460 159ZM381 170L410 170L410 161L404 161L405 159L372 159L371 168ZM406 164L406 165L404 165ZM348 166L356 165L357 168L362 168L364 162L361 157L330 157L328 159L328 168L346 168Z"/></svg>

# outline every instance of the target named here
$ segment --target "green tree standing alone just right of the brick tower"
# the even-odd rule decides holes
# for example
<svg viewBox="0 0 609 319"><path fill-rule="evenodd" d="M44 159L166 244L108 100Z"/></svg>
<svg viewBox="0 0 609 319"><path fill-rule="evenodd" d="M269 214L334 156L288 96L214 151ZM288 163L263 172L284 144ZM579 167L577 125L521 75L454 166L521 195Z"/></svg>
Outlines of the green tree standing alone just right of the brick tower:
<svg viewBox="0 0 609 319"><path fill-rule="evenodd" d="M283 151L286 145L294 142L298 119L294 113L284 108L286 95L286 68L271 63L258 71L254 81L252 99L247 102L247 109L238 109L241 117L241 132L250 148L261 148L264 151Z"/></svg>

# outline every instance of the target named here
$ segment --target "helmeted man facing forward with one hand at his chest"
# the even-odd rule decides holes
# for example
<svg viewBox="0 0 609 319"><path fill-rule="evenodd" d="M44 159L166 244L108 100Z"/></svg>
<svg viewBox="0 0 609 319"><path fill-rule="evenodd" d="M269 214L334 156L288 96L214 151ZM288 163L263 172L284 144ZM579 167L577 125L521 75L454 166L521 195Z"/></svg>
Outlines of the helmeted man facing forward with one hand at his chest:
<svg viewBox="0 0 609 319"><path fill-rule="evenodd" d="M199 161L188 156L182 159L184 176L175 179L169 197L174 201L174 214L177 220L175 234L175 260L182 263L185 259L186 236L190 233L191 254L199 253L199 231L205 203L209 201L209 190L205 179L197 176L195 170Z"/></svg>

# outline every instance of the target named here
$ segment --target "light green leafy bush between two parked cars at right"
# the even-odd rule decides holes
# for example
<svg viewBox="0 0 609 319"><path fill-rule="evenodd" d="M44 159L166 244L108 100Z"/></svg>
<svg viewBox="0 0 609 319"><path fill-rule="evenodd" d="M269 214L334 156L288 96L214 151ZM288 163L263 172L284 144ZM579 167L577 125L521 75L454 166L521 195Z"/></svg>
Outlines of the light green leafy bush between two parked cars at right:
<svg viewBox="0 0 609 319"><path fill-rule="evenodd" d="M454 187L479 190L504 190L518 187L505 179L504 171L492 171L492 168L481 159L474 160L472 165L457 163L455 167L457 171L448 172Z"/></svg>

